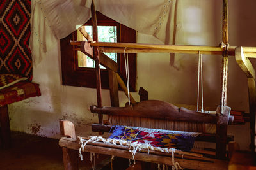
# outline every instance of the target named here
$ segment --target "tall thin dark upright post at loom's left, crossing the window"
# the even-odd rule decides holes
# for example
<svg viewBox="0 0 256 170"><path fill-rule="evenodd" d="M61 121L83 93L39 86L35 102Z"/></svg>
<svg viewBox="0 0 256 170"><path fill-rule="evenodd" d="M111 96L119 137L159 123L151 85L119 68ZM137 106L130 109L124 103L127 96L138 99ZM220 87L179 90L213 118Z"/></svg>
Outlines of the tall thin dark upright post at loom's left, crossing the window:
<svg viewBox="0 0 256 170"><path fill-rule="evenodd" d="M92 29L93 29L93 41L98 41L98 28L95 5L92 1ZM93 46L93 56L95 57L95 69L96 69L96 89L97 89L97 107L102 108L102 92L101 92L101 78L100 78L100 60L98 46ZM102 114L98 114L99 124L103 124Z"/></svg>

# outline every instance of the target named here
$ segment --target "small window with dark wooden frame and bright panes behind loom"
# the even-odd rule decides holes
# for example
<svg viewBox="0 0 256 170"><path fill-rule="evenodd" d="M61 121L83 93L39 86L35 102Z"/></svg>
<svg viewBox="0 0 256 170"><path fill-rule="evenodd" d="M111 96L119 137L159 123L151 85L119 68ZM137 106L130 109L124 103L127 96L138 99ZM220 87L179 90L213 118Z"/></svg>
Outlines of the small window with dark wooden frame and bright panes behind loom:
<svg viewBox="0 0 256 170"><path fill-rule="evenodd" d="M136 31L125 27L115 20L97 11L99 41L136 43ZM92 21L83 26L92 34ZM77 50L77 46L70 45L70 40L83 40L80 32L74 31L61 39L61 72L62 84L78 87L96 87L95 63L92 59ZM125 80L125 64L123 53L105 53L118 63L118 73ZM102 89L109 89L108 70L100 66ZM136 90L136 54L129 53L129 78L131 91Z"/></svg>

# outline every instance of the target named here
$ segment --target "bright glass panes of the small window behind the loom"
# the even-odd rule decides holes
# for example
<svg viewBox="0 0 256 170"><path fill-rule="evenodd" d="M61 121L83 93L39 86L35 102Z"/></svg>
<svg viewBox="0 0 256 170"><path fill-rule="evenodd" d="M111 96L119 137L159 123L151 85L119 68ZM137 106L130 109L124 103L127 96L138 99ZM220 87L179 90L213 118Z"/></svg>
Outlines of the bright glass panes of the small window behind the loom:
<svg viewBox="0 0 256 170"><path fill-rule="evenodd" d="M92 36L92 26L84 26L86 29L86 32ZM99 36L99 42L117 42L117 34L116 34L116 26L98 26L98 36ZM77 31L77 40L84 41L86 40L80 31ZM109 58L117 62L117 53L105 53L108 55ZM78 57L78 67L95 67L94 60L90 59L90 57L86 56L82 52L77 53ZM100 68L104 68L103 66L100 66Z"/></svg>

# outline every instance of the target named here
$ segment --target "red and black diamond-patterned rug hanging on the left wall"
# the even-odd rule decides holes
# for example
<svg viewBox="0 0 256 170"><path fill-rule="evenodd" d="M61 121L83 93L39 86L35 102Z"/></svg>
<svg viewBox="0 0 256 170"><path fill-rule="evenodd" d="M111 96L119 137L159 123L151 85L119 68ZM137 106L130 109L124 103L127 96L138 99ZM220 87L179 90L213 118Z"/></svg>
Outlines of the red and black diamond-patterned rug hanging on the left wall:
<svg viewBox="0 0 256 170"><path fill-rule="evenodd" d="M0 1L0 74L19 74L32 80L30 16L31 0Z"/></svg>

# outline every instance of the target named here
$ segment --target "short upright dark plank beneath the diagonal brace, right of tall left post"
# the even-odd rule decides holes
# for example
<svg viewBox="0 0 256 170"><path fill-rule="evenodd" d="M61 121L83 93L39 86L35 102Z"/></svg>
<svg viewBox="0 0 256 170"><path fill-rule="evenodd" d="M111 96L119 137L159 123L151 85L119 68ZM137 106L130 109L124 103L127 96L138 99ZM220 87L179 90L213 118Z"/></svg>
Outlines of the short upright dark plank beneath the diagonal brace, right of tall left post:
<svg viewBox="0 0 256 170"><path fill-rule="evenodd" d="M116 73L112 70L108 70L108 78L111 106L119 107L118 82Z"/></svg>

